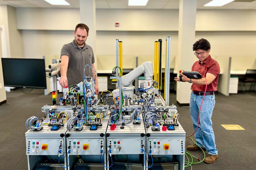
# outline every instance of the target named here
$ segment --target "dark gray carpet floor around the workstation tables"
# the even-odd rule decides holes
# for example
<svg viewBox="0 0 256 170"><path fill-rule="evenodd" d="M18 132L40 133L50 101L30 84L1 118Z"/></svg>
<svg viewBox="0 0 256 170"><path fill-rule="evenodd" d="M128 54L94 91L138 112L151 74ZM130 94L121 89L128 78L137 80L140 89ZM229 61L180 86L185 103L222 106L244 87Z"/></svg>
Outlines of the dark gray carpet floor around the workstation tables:
<svg viewBox="0 0 256 170"><path fill-rule="evenodd" d="M256 92L231 94L229 97L216 94L215 100L212 122L219 158L212 164L195 164L192 166L193 169L256 169ZM176 104L174 93L170 94L170 104L172 103ZM28 168L25 122L32 115L41 117L41 107L46 104L51 104L51 95L45 96L43 90L34 89L28 94L21 92L20 89L7 92L7 103L0 106L0 169ZM192 134L189 107L178 107L178 112L179 121L187 135ZM239 124L245 130L226 130L221 124ZM191 144L193 142L186 139L186 146ZM201 159L204 156L200 151L190 153Z"/></svg>

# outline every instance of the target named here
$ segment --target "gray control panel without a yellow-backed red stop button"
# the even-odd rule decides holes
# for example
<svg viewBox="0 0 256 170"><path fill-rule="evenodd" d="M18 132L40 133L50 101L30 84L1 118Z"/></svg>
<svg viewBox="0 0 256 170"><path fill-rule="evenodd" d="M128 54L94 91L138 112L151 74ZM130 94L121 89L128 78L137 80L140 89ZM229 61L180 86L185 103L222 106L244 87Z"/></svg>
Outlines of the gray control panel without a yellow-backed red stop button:
<svg viewBox="0 0 256 170"><path fill-rule="evenodd" d="M111 154L143 154L141 148L145 145L144 138L108 138Z"/></svg>

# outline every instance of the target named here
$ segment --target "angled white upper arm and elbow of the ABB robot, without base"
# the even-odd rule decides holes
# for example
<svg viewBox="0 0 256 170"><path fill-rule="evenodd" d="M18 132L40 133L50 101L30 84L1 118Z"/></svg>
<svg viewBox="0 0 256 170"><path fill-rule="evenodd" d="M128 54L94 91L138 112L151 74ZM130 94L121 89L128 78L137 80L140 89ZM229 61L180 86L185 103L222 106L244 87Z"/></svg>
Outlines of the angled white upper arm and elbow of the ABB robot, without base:
<svg viewBox="0 0 256 170"><path fill-rule="evenodd" d="M154 75L153 63L150 61L144 62L130 73L122 76L122 85L129 86L142 73L145 73L145 80L151 80Z"/></svg>

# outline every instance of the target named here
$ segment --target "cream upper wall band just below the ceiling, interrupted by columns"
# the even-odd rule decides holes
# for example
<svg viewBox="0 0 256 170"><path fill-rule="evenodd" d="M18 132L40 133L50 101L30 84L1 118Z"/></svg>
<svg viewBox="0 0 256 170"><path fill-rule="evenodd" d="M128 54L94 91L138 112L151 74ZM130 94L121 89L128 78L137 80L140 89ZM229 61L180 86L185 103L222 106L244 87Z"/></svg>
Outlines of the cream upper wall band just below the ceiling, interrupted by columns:
<svg viewBox="0 0 256 170"><path fill-rule="evenodd" d="M79 9L17 8L18 29L74 30L79 22ZM178 31L178 24L178 10L96 10L96 30ZM197 10L196 31L256 31L256 10Z"/></svg>

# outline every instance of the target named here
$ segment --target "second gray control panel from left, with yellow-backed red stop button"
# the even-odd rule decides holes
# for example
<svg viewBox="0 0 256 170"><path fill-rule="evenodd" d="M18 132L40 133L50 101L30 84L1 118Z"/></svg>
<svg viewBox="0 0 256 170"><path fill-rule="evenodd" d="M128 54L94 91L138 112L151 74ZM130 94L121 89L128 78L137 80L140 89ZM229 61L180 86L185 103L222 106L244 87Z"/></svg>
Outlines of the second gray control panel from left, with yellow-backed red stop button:
<svg viewBox="0 0 256 170"><path fill-rule="evenodd" d="M104 139L68 139L70 155L100 155L103 154Z"/></svg>

